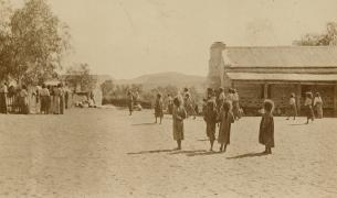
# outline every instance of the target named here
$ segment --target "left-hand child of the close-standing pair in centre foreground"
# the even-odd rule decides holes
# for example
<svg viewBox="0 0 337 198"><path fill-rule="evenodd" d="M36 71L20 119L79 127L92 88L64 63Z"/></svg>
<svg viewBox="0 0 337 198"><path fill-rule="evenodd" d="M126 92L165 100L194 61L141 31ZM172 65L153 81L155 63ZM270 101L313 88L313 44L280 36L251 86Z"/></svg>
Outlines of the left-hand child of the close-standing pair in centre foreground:
<svg viewBox="0 0 337 198"><path fill-rule="evenodd" d="M213 151L213 144L215 140L215 125L217 125L217 103L215 98L210 97L208 101L206 102L204 107L204 114L203 120L206 121L206 133L207 136L210 139L211 148L210 151Z"/></svg>

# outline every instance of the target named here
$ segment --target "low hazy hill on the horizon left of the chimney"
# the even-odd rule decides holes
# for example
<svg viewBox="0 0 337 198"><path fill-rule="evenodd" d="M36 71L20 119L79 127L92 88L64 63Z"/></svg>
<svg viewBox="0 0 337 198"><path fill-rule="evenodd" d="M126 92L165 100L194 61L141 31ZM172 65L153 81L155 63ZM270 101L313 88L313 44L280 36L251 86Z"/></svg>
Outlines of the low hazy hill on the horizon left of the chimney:
<svg viewBox="0 0 337 198"><path fill-rule="evenodd" d="M144 88L150 89L158 86L177 86L181 87L191 87L203 88L206 85L206 77L203 76L194 76L194 75L186 75L181 73L157 73L143 75L133 79L122 79L116 80L117 84L141 84Z"/></svg>

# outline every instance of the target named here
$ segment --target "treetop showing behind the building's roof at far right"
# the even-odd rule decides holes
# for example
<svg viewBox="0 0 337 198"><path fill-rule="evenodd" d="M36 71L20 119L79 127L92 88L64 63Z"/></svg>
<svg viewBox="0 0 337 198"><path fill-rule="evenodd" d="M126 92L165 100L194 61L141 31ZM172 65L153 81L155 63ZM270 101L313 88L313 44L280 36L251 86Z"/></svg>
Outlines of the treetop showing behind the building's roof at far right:
<svg viewBox="0 0 337 198"><path fill-rule="evenodd" d="M294 45L318 46L337 45L337 23L328 22L323 34L305 34L301 40L294 41Z"/></svg>

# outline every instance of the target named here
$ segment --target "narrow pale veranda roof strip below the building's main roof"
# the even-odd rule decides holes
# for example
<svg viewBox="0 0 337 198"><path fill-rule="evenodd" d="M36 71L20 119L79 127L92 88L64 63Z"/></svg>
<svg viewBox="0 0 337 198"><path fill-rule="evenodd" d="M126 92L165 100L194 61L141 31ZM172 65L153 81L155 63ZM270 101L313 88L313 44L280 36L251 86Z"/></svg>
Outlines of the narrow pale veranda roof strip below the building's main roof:
<svg viewBox="0 0 337 198"><path fill-rule="evenodd" d="M273 81L337 81L337 74L261 74L227 73L233 80L273 80Z"/></svg>

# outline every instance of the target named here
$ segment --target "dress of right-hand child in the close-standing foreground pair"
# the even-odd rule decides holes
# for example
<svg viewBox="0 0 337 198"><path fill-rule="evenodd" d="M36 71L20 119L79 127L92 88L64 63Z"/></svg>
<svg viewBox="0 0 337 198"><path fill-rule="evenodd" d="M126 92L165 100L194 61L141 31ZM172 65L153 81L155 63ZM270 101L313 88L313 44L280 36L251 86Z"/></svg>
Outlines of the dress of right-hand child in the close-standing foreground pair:
<svg viewBox="0 0 337 198"><path fill-rule="evenodd" d="M234 117L231 111L221 111L218 116L218 121L220 121L220 129L218 135L218 142L220 144L230 144L231 140L231 124L234 122Z"/></svg>

